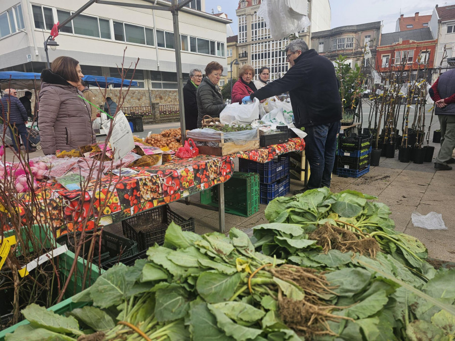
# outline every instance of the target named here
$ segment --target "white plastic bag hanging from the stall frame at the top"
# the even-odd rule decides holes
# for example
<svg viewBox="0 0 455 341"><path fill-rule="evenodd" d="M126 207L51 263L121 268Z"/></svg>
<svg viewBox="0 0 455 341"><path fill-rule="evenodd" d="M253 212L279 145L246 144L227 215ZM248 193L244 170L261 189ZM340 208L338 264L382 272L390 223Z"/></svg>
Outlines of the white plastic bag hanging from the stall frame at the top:
<svg viewBox="0 0 455 341"><path fill-rule="evenodd" d="M296 3L289 0L262 0L257 15L264 18L273 39L281 40L310 25L308 17L299 13L302 11L300 6L295 6Z"/></svg>

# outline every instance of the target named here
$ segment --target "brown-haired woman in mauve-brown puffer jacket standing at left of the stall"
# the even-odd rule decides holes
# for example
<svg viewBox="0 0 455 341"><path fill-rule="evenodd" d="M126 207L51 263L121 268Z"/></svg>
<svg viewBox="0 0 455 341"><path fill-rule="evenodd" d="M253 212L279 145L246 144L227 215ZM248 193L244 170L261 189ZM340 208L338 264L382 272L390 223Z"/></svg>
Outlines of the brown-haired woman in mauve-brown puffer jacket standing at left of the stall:
<svg viewBox="0 0 455 341"><path fill-rule="evenodd" d="M96 141L89 104L77 89L83 76L79 62L71 57L58 57L51 69L41 72L38 124L44 155Z"/></svg>

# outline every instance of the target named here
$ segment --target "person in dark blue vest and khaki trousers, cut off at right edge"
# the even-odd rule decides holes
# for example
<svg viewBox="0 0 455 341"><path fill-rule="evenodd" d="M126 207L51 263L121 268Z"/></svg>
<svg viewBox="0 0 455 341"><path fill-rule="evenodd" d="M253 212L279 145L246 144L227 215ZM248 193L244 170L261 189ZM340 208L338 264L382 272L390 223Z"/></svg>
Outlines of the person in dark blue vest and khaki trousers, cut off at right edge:
<svg viewBox="0 0 455 341"><path fill-rule="evenodd" d="M444 72L429 90L436 106L441 129L441 149L434 160L434 169L451 170L455 163L452 152L455 148L455 69Z"/></svg>

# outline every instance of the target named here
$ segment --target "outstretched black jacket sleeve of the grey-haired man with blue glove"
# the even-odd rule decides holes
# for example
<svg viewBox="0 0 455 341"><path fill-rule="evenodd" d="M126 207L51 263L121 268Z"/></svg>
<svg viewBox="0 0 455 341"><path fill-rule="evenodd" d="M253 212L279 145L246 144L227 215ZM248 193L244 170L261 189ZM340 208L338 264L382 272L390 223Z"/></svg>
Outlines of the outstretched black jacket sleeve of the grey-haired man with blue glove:
<svg viewBox="0 0 455 341"><path fill-rule="evenodd" d="M259 90L253 92L250 98L253 100L257 98L259 101L265 100L269 97L279 95L283 92L291 91L300 86L305 81L305 75L299 70L298 67L292 67L280 79L274 80Z"/></svg>

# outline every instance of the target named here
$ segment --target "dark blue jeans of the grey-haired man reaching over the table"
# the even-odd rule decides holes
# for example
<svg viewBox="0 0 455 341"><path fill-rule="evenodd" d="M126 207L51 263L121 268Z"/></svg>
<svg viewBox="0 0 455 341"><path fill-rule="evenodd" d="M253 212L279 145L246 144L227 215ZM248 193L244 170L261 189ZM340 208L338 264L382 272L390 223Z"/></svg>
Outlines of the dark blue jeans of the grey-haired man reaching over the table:
<svg viewBox="0 0 455 341"><path fill-rule="evenodd" d="M330 187L340 121L306 127L305 157L310 165L308 189Z"/></svg>

